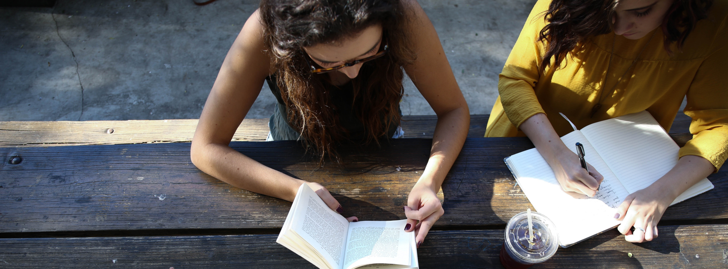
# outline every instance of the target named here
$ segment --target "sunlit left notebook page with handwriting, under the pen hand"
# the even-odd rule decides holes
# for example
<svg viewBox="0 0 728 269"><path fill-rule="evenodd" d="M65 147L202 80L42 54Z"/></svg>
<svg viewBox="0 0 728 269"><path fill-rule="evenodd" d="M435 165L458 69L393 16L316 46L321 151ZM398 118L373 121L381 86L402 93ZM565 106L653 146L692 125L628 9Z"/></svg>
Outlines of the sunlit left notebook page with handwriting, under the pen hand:
<svg viewBox="0 0 728 269"><path fill-rule="evenodd" d="M585 145L587 162L604 174L606 179L601 185L601 196L588 198L578 193L564 192L553 170L535 148L510 156L507 164L537 212L545 214L554 222L563 246L619 225L620 222L614 220L615 209L612 206L622 202L626 190L597 154L588 153L594 152L594 149L581 132L571 132L561 139L570 143L567 145L574 145L576 141Z"/></svg>

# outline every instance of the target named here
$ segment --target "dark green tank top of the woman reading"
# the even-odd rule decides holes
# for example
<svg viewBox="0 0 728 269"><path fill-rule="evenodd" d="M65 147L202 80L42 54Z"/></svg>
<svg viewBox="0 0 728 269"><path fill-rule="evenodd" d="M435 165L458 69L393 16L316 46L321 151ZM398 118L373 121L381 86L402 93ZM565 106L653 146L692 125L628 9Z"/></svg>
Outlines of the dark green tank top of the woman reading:
<svg viewBox="0 0 728 269"><path fill-rule="evenodd" d="M276 81L276 76L271 75L266 77L266 82L271 92L275 96L277 102L274 113L269 121L269 127L271 129L271 135L273 140L298 140L300 132L290 127L290 121L288 120L288 112L283 103L283 99L280 95L280 89ZM339 113L339 124L349 132L349 139L352 141L364 140L366 137L366 127L362 122L357 119L352 111L354 105L354 87L352 81L341 85L339 87L328 85L331 89L331 94L328 95L331 98L331 103L335 106L334 109ZM402 115L402 111L397 107L397 112ZM382 126L386 127L386 122L382 121ZM387 137L392 137L397 131L399 122L389 124L387 130Z"/></svg>

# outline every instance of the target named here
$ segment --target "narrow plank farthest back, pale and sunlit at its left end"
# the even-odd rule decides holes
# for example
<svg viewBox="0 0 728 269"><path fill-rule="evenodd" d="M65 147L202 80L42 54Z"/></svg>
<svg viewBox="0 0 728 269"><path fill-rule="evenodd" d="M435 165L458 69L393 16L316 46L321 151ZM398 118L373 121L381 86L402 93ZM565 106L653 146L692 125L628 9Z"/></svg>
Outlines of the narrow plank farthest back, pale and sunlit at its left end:
<svg viewBox="0 0 728 269"><path fill-rule="evenodd" d="M403 116L405 138L432 138L437 116ZM467 137L483 137L488 115L470 115ZM690 118L676 117L670 135L679 145L692 138ZM197 119L154 121L0 121L0 146L112 145L146 142L190 142ZM109 133L113 129L114 132ZM268 119L245 119L233 141L265 141Z"/></svg>

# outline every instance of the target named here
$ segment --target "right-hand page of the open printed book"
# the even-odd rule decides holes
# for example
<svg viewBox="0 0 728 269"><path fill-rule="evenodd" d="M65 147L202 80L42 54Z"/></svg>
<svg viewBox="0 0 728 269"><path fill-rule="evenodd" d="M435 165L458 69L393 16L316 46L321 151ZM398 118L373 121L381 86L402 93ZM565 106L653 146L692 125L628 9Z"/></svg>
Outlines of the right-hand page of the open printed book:
<svg viewBox="0 0 728 269"><path fill-rule="evenodd" d="M413 233L405 232L407 220L349 223L344 268L374 263L410 265Z"/></svg>

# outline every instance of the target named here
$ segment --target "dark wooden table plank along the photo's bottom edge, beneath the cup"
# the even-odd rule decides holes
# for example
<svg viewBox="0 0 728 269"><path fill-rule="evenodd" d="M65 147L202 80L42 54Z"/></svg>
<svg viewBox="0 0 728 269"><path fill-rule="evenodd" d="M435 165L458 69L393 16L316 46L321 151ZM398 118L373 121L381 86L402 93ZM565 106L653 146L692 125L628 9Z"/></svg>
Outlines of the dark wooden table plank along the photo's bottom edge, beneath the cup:
<svg viewBox="0 0 728 269"><path fill-rule="evenodd" d="M314 268L276 237L4 238L0 267ZM432 231L418 250L420 268L502 268L502 242L502 230ZM727 225L660 226L660 237L643 244L610 230L532 268L726 268L727 248Z"/></svg>

